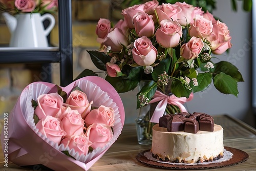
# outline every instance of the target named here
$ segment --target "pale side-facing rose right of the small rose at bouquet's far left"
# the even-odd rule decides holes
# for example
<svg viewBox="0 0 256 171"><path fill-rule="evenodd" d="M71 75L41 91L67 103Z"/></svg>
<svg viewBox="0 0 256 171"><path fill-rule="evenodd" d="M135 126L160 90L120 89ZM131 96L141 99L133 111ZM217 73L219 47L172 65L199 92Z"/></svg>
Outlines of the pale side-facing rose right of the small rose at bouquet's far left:
<svg viewBox="0 0 256 171"><path fill-rule="evenodd" d="M103 44L107 47L111 46L112 52L120 52L123 49L123 46L128 45L128 40L121 29L115 28L113 31L109 32Z"/></svg>

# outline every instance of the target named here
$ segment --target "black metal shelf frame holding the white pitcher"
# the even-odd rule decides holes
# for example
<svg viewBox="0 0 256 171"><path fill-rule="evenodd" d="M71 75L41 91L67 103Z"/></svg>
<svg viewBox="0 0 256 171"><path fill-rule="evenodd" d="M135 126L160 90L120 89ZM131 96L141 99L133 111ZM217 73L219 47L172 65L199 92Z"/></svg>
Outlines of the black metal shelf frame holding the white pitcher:
<svg viewBox="0 0 256 171"><path fill-rule="evenodd" d="M0 51L0 63L60 63L60 86L73 81L71 0L58 0L59 49Z"/></svg>

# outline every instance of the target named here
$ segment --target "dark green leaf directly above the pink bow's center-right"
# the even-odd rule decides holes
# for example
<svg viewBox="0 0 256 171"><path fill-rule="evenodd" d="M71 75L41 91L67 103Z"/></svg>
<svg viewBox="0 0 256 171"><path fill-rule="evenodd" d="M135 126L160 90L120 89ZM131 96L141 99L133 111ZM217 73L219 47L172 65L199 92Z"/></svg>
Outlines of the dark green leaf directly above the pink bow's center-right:
<svg viewBox="0 0 256 171"><path fill-rule="evenodd" d="M191 90L186 89L184 84L182 84L182 82L179 79L175 79L173 80L172 85L170 86L170 90L172 90L172 93L176 97L188 98L193 89Z"/></svg>

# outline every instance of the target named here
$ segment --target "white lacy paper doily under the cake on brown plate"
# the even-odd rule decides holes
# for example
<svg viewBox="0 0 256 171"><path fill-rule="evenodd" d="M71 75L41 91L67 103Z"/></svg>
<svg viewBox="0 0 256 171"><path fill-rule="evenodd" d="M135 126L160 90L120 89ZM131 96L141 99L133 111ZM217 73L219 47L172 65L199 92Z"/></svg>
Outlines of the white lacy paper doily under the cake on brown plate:
<svg viewBox="0 0 256 171"><path fill-rule="evenodd" d="M226 151L226 149L224 149L224 153L223 153L223 157L218 159L218 160L214 160L214 161L209 161L209 162L202 162L202 163L172 163L172 162L165 162L165 161L159 161L156 158L154 158L152 156L152 152L146 152L144 153L144 156L148 159L148 160L152 160L152 161L156 161L159 163L165 163L165 164L173 164L173 165L207 165L207 164L216 164L216 163L221 163L224 161L228 161L232 158L233 154L229 151Z"/></svg>

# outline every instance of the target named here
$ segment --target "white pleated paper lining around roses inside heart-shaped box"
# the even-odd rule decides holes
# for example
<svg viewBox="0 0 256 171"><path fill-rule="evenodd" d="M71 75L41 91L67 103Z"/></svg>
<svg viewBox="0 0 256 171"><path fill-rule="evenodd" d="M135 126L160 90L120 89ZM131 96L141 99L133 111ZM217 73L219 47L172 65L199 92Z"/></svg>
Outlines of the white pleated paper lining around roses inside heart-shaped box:
<svg viewBox="0 0 256 171"><path fill-rule="evenodd" d="M89 102L93 100L93 106L109 106L112 107L115 111L115 122L113 126L114 136L112 140L108 142L104 147L98 147L94 149L93 152L89 153L88 155L79 155L77 152L74 151L74 149L69 149L69 147L65 148L63 144L58 145L57 143L50 141L44 135L39 133L38 129L36 129L33 119L34 108L32 107L31 100L36 100L39 95L47 94L50 91L50 88L47 87L45 84L30 84L29 88L24 90L23 93L20 95L20 107L22 109L23 115L27 123L39 137L41 137L43 140L45 140L47 143L49 143L51 146L58 149L59 151L69 151L69 154L73 156L76 160L83 163L88 163L89 161L99 156L106 148L108 148L111 144L113 144L116 141L118 136L121 134L122 123L120 119L118 106L115 102L113 102L108 93L103 92L100 89L100 87L98 87L95 83L90 82L88 80L79 80L76 82L76 85L74 87L76 86L78 86L84 93L86 93Z"/></svg>

